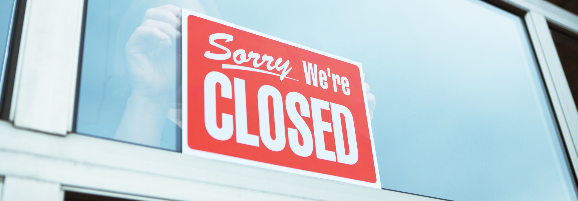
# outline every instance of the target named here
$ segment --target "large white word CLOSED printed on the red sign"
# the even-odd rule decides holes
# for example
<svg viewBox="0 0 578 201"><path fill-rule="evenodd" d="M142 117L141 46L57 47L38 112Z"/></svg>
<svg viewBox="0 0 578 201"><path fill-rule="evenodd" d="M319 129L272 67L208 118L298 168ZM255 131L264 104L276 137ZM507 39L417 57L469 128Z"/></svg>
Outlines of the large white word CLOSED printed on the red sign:
<svg viewBox="0 0 578 201"><path fill-rule="evenodd" d="M220 85L221 93L218 95L223 98L231 99L235 94L235 120L231 114L222 113L221 122L217 122L217 105L216 86ZM271 151L281 151L285 148L288 141L291 150L303 157L310 156L313 152L313 137L312 131L303 120L303 117L311 118L313 120L313 133L315 136L315 147L318 159L325 159L337 161L353 165L357 163L357 139L355 138L355 128L353 123L353 116L349 109L343 105L329 103L328 101L311 98L311 104L307 98L298 92L289 92L284 100L281 93L275 87L270 85L263 85L259 87L257 92L257 111L259 122L260 136L247 133L247 105L245 94L245 81L243 79L234 78L234 90L232 89L231 81L227 75L217 71L209 72L205 76L204 85L205 97L205 127L209 135L217 140L229 140L233 136L234 121L236 125L236 141L238 143L259 147L260 136L261 142ZM233 92L234 91L234 92ZM269 98L272 101L269 101ZM283 103L285 102L285 103ZM269 111L269 106L273 107ZM299 111L297 107L299 105ZM286 110L284 110L284 107ZM311 108L311 112L309 111ZM331 123L321 120L321 109L331 110ZM285 117L284 111L295 129L287 127L287 138L285 132ZM269 119L273 114L273 125L275 125L274 134L271 133L271 122ZM345 154L345 145L343 139L341 117L345 118L345 127L347 130L347 141L349 142L349 154ZM218 125L221 126L218 126ZM324 131L334 131L335 134L335 148L336 152L325 149ZM298 133L301 134L302 142L299 142ZM336 155L337 154L337 157ZM336 160L337 159L337 160Z"/></svg>

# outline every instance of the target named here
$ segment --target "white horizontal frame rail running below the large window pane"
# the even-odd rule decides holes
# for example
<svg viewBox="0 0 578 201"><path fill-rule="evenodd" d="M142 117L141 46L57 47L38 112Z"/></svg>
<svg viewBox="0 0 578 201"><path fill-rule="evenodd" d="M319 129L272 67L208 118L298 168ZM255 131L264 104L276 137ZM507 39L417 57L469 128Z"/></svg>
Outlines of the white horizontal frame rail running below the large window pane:
<svg viewBox="0 0 578 201"><path fill-rule="evenodd" d="M0 165L7 188L16 177L167 200L436 200L3 121L0 139L0 158L18 164Z"/></svg>

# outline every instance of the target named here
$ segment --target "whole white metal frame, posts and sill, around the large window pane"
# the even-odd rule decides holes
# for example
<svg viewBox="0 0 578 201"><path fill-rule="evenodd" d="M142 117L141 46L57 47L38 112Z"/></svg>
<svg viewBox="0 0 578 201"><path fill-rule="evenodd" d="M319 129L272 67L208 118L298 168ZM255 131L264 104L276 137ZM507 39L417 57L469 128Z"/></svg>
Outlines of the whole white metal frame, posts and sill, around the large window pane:
<svg viewBox="0 0 578 201"><path fill-rule="evenodd" d="M578 16L544 0L487 2L523 17L576 172L578 111L548 23L578 34ZM11 122L0 121L0 158L3 164L12 164L0 165L0 174L8 181L3 188L11 191L0 199L14 199L14 193L24 192L24 184L35 184L46 191L58 187L53 193L60 196L45 200L61 200L64 191L143 200L440 200L72 133L84 3L28 0L26 4Z"/></svg>

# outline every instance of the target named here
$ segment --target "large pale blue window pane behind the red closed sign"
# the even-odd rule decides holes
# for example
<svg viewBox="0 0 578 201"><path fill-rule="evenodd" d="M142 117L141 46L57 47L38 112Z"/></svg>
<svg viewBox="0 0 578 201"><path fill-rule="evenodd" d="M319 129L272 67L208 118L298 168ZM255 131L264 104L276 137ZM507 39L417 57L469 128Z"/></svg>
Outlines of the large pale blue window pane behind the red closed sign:
<svg viewBox="0 0 578 201"><path fill-rule="evenodd" d="M576 200L524 23L477 0L90 0L77 132L179 149L178 36L138 29L167 3L362 63L383 188Z"/></svg>

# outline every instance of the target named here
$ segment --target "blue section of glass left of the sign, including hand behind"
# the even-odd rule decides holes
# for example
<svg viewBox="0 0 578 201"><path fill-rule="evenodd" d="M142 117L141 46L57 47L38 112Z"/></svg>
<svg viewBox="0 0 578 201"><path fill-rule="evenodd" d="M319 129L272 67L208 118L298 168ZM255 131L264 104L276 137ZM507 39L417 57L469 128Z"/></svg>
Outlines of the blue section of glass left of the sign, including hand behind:
<svg viewBox="0 0 578 201"><path fill-rule="evenodd" d="M77 133L180 150L180 8L216 13L206 1L88 1Z"/></svg>

